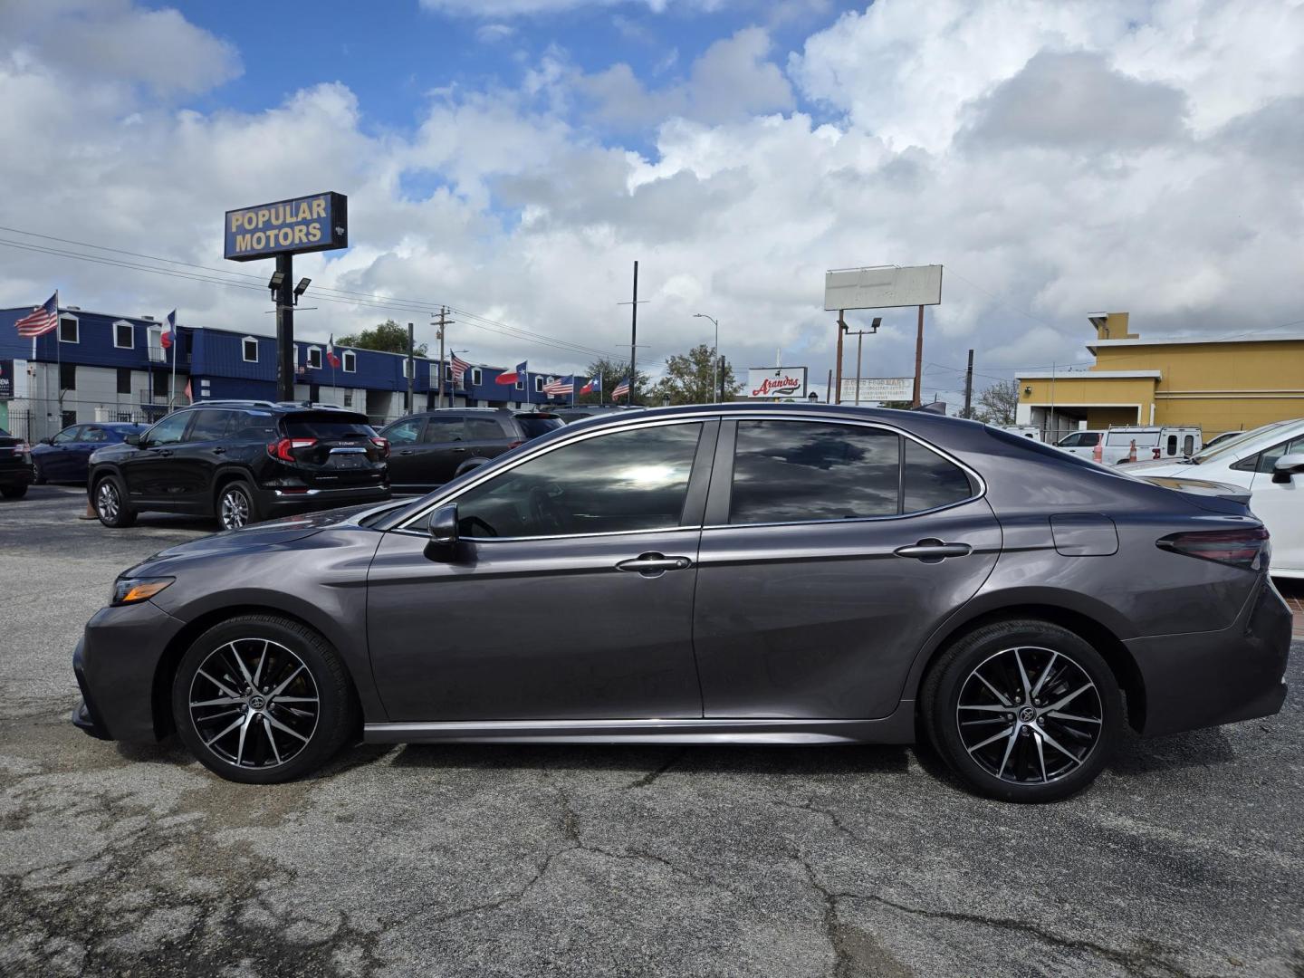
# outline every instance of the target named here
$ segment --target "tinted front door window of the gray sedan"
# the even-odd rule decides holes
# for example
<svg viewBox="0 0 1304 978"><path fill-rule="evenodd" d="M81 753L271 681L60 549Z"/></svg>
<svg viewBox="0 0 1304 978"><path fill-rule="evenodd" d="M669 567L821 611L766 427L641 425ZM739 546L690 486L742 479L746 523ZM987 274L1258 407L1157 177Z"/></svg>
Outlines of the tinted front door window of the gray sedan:
<svg viewBox="0 0 1304 978"><path fill-rule="evenodd" d="M700 424L571 442L456 498L473 537L567 536L679 526Z"/></svg>

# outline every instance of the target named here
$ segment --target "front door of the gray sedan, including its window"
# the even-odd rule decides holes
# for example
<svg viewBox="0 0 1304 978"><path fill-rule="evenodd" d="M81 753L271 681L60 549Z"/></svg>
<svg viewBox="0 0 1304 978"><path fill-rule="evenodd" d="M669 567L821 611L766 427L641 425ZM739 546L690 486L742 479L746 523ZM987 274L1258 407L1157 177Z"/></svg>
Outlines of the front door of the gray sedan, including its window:
<svg viewBox="0 0 1304 978"><path fill-rule="evenodd" d="M580 436L450 497L451 552L429 546L424 516L386 533L366 621L390 720L700 717L713 439L703 422Z"/></svg>

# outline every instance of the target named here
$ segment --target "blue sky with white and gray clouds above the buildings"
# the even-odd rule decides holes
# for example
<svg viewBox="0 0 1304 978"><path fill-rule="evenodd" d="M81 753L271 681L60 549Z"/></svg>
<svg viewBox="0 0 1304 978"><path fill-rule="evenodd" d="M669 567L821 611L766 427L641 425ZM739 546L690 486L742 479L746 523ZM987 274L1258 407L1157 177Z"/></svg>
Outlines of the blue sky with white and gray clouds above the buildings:
<svg viewBox="0 0 1304 978"><path fill-rule="evenodd" d="M1090 312L1304 321L1291 0L4 0L0 43L5 306L57 286L271 333L270 262L222 259L222 213L333 189L353 244L297 259L339 289L299 334L429 340L445 303L492 364L617 353L634 259L653 369L700 312L737 365L816 377L825 269L944 265L944 396L969 347L979 383L1084 361ZM913 316L866 376L913 369Z"/></svg>

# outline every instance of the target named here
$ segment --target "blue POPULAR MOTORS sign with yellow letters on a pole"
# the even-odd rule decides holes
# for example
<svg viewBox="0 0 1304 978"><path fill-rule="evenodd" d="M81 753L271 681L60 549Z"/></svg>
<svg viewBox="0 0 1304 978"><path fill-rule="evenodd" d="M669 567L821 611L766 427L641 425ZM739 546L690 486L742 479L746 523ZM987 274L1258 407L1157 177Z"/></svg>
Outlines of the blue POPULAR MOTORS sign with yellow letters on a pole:
<svg viewBox="0 0 1304 978"><path fill-rule="evenodd" d="M348 248L348 198L317 193L228 210L226 257L237 262Z"/></svg>

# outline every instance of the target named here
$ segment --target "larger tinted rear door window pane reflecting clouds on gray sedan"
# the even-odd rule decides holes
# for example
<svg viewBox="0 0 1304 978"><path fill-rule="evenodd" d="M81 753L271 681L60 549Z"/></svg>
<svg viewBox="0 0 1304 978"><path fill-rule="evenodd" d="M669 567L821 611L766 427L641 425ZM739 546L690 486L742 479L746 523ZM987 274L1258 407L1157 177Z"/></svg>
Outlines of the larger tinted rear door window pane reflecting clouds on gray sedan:
<svg viewBox="0 0 1304 978"><path fill-rule="evenodd" d="M898 511L900 438L818 421L739 421L730 523L794 523Z"/></svg>

